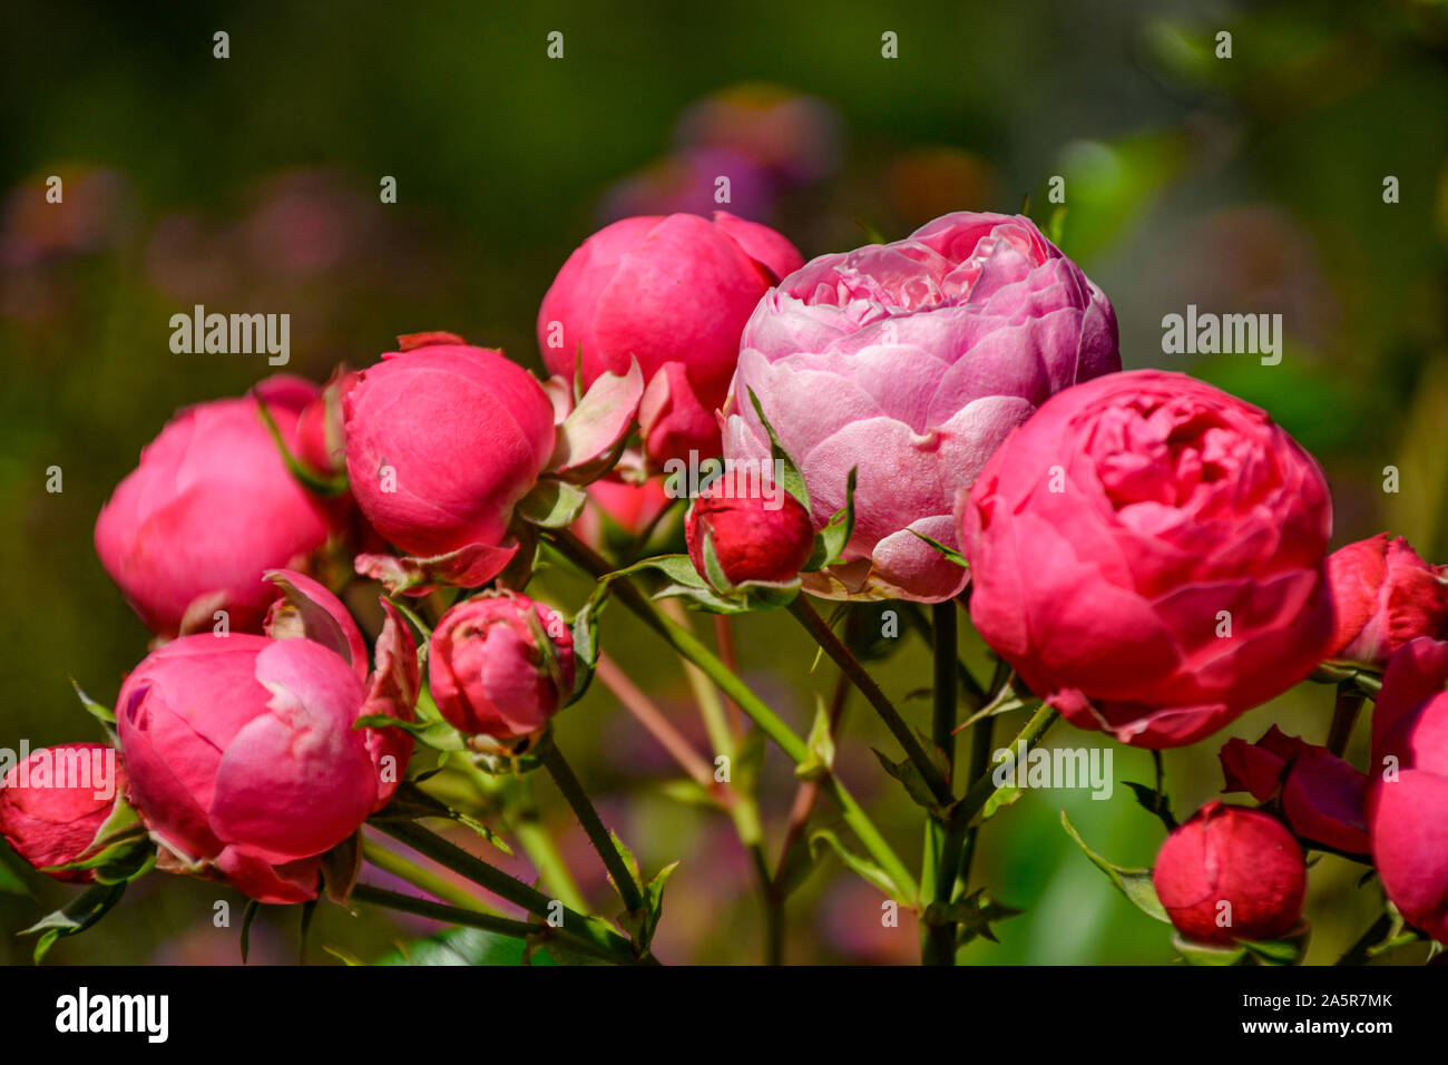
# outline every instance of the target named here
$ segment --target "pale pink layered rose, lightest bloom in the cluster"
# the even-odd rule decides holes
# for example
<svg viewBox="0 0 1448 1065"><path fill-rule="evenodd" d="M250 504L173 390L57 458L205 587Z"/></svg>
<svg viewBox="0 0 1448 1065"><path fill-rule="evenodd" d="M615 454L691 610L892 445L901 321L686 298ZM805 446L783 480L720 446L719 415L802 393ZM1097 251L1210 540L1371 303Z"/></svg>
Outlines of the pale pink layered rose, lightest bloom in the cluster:
<svg viewBox="0 0 1448 1065"><path fill-rule="evenodd" d="M749 393L809 487L814 525L844 506L844 565L807 590L934 603L966 574L951 511L1006 433L1053 393L1121 368L1111 303L1025 217L957 213L905 241L824 255L760 301L740 341L724 455L769 459Z"/></svg>

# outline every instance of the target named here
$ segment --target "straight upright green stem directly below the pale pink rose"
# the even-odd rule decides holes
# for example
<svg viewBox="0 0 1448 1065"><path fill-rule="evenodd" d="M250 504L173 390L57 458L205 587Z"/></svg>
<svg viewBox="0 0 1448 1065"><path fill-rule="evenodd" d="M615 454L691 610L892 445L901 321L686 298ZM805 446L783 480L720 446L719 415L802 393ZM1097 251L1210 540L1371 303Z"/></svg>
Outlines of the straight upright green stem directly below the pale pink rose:
<svg viewBox="0 0 1448 1065"><path fill-rule="evenodd" d="M951 774L956 767L956 604L934 607L935 691L931 714L931 742L946 756ZM964 846L964 824L950 814L933 813L925 822L925 856L919 882L930 891L930 901L948 904L956 888L960 852ZM928 906L927 906L928 909ZM956 964L956 924L924 922L921 932L921 961L925 965Z"/></svg>

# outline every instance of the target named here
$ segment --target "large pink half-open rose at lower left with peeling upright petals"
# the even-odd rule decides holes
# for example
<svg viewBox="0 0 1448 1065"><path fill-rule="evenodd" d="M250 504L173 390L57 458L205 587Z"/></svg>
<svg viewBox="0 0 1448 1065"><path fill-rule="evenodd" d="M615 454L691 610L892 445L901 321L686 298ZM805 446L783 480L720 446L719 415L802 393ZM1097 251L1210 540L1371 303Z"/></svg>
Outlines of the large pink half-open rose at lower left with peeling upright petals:
<svg viewBox="0 0 1448 1065"><path fill-rule="evenodd" d="M355 729L411 719L417 659L391 614L368 680L355 623L301 574L269 636L184 636L151 653L116 700L129 795L164 868L222 878L264 903L317 897L320 856L397 790L411 739ZM408 661L410 659L410 661Z"/></svg>

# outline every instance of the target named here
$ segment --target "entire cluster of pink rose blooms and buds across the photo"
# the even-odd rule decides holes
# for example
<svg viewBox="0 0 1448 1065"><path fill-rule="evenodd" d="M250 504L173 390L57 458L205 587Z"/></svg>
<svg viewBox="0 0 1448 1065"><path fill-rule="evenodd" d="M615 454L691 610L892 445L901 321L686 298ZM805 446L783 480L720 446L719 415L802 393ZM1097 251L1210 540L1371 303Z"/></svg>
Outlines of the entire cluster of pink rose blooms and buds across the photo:
<svg viewBox="0 0 1448 1065"><path fill-rule="evenodd" d="M1319 849L1370 862L1402 917L1448 940L1448 568L1387 533L1329 555L1316 461L1219 388L1122 372L1111 303L1028 219L947 214L805 264L723 212L627 217L568 258L536 325L546 381L416 333L326 388L277 377L162 429L96 523L155 642L120 685L114 748L36 752L0 780L22 858L106 884L122 868L107 833L129 816L161 869L314 900L348 855L355 868L429 733L514 769L550 740L602 669L591 611L653 565L672 578L659 594L720 613L812 594L940 604L950 622L957 600L1011 667L993 697L1141 748L1335 681L1325 745L1276 724L1225 742L1224 790L1258 806L1212 801L1170 832L1156 916L1219 948L1295 936ZM659 474L701 461L723 475L675 509ZM640 559L656 533L679 540L679 519L685 551ZM572 616L524 594L544 540L598 578ZM339 598L359 577L417 607L381 597L371 651ZM376 598L365 587L349 600ZM830 625L821 643L857 665ZM1358 768L1347 743L1380 672ZM828 746L815 735L811 758ZM573 801L556 746L536 753ZM946 817L938 790L959 781L931 780L921 753L912 795ZM25 785L62 755L111 758L114 791Z"/></svg>

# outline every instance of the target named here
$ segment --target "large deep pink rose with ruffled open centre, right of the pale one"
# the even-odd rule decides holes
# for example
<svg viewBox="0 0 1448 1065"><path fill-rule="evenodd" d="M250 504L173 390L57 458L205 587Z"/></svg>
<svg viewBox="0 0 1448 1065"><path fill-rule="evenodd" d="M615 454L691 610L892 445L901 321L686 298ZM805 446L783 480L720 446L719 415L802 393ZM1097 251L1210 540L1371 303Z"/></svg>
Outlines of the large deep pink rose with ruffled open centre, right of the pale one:
<svg viewBox="0 0 1448 1065"><path fill-rule="evenodd" d="M1215 732L1305 680L1332 633L1322 471L1184 374L1056 396L960 517L976 629L1073 724L1125 743Z"/></svg>

